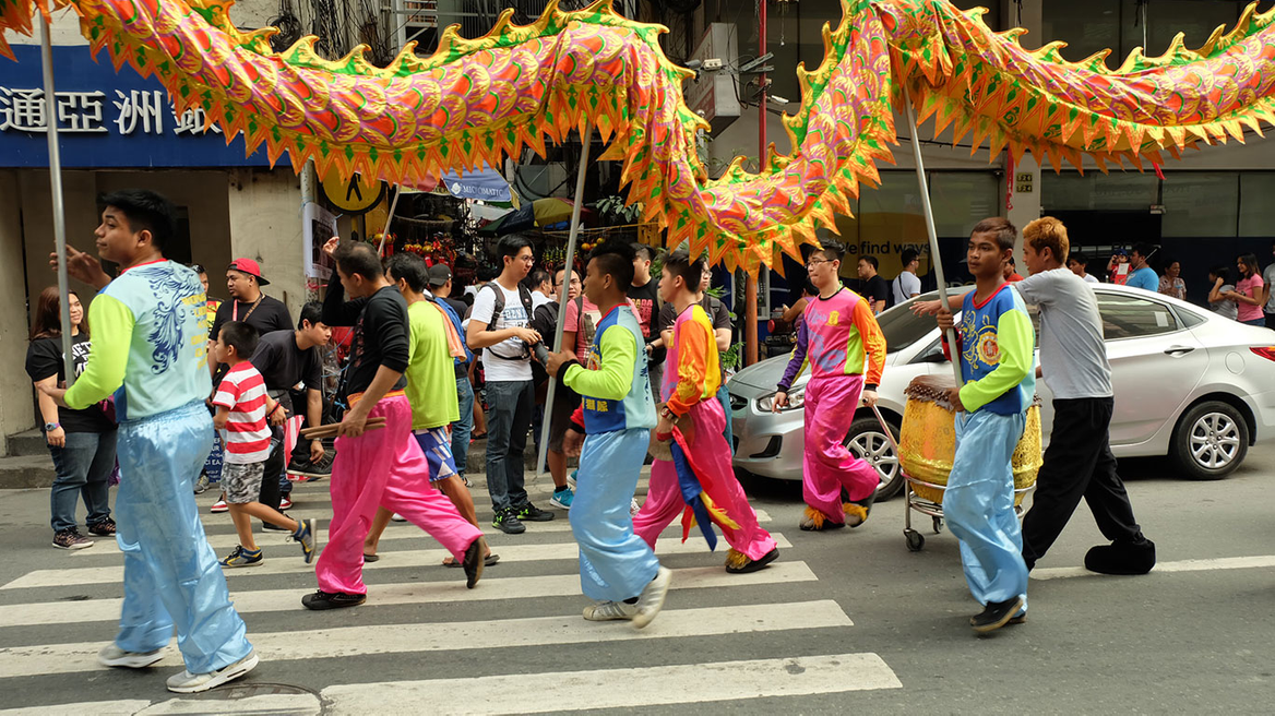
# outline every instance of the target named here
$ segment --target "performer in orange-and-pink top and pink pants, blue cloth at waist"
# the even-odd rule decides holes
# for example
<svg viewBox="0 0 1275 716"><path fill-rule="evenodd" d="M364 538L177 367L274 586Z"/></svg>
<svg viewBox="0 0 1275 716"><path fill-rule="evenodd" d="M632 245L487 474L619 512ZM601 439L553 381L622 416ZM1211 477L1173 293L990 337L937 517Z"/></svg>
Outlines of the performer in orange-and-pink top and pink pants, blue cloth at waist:
<svg viewBox="0 0 1275 716"><path fill-rule="evenodd" d="M655 432L666 434L673 426L681 424L682 433L688 437L686 450L674 459L685 457L683 469L688 468L694 475L680 478L674 462L655 460L646 501L634 516L634 531L654 549L659 533L680 512L686 515L682 520L685 540L694 515L710 545L715 544L715 538L709 521L722 529L731 544L727 572L755 572L774 562L779 548L770 534L757 525L757 515L734 478L731 446L722 434L725 414L717 401L722 368L713 324L688 288L699 288L701 266L699 260L690 260L685 250L674 251L666 260L659 282L660 297L672 303L678 315L664 363L660 395L666 404ZM694 432L687 423L694 426Z"/></svg>

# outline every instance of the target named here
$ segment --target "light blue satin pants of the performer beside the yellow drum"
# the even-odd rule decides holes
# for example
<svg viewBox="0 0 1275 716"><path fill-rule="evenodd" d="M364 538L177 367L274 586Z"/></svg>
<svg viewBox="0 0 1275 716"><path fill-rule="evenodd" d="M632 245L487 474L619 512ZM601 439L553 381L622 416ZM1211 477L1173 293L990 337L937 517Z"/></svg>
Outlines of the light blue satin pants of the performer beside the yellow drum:
<svg viewBox="0 0 1275 716"><path fill-rule="evenodd" d="M958 413L956 456L943 493L943 517L960 539L965 581L974 599L987 605L1021 596L1024 612L1028 566L1014 513L1010 460L1025 424L1024 413Z"/></svg>

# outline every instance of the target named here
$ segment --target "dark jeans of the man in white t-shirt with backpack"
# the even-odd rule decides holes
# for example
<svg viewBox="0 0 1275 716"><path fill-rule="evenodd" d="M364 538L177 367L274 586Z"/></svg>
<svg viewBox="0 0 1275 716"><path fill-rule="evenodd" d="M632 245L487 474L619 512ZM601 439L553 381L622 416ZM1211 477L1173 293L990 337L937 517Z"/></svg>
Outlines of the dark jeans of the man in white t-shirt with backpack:
<svg viewBox="0 0 1275 716"><path fill-rule="evenodd" d="M523 454L534 403L532 381L487 382L487 492L496 511L527 505Z"/></svg>

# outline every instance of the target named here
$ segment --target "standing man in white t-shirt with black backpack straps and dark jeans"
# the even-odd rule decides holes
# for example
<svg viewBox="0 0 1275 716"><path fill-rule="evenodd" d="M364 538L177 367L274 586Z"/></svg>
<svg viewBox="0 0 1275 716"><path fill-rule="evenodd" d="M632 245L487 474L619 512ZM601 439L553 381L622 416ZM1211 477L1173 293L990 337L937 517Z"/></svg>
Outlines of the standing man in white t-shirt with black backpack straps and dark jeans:
<svg viewBox="0 0 1275 716"><path fill-rule="evenodd" d="M516 535L527 531L524 520L553 519L552 512L527 499L523 482L523 452L536 406L532 347L541 341L541 334L529 327L532 296L520 282L536 256L532 242L516 234L501 238L496 255L504 268L474 297L465 343L473 350L482 349L487 383L487 492L496 511L492 526Z"/></svg>

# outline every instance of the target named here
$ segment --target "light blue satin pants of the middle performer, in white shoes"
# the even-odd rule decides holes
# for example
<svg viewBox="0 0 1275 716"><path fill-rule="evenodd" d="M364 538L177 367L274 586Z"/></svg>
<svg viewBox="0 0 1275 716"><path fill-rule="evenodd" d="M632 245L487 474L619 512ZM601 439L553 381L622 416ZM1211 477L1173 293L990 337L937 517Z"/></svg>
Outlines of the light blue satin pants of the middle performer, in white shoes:
<svg viewBox="0 0 1275 716"><path fill-rule="evenodd" d="M580 545L580 589L594 601L622 601L655 578L659 561L634 534L629 502L638 489L650 431L590 434L580 451L567 519Z"/></svg>

